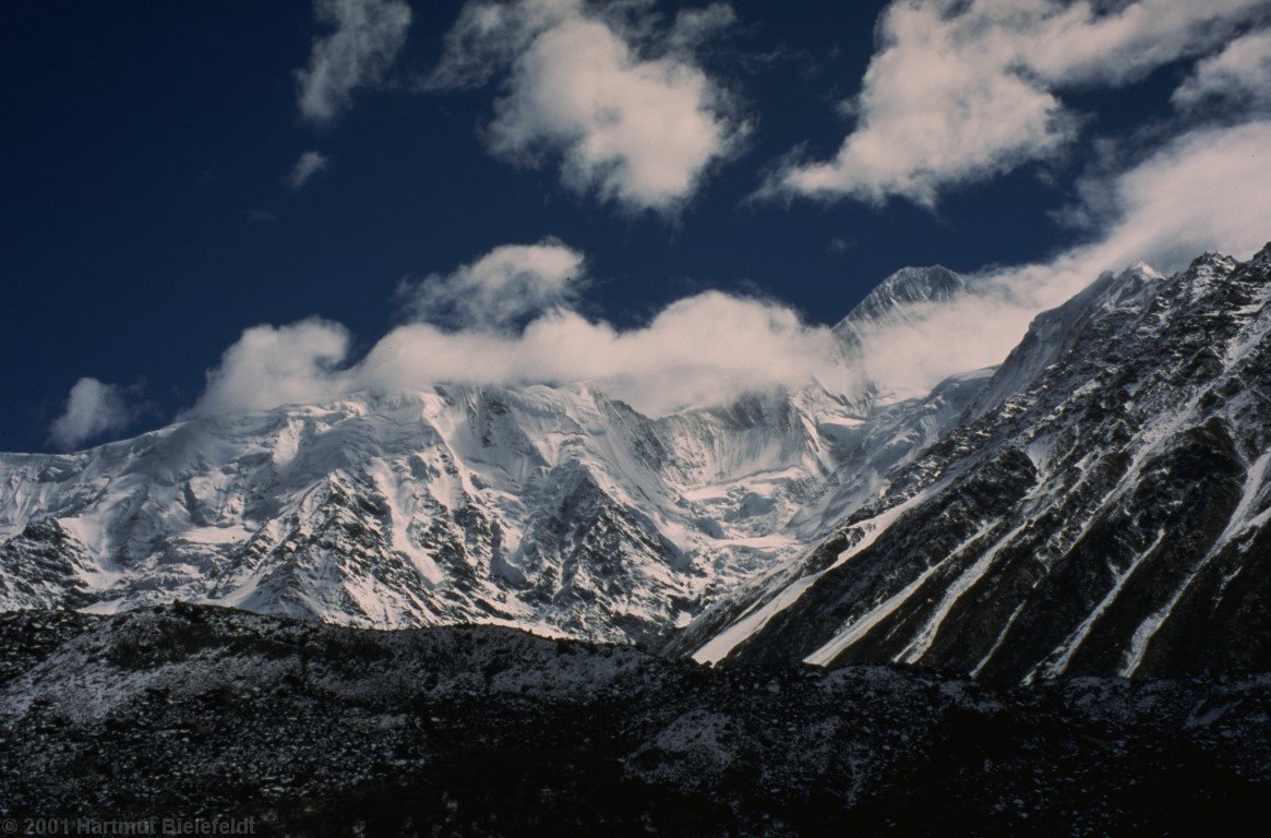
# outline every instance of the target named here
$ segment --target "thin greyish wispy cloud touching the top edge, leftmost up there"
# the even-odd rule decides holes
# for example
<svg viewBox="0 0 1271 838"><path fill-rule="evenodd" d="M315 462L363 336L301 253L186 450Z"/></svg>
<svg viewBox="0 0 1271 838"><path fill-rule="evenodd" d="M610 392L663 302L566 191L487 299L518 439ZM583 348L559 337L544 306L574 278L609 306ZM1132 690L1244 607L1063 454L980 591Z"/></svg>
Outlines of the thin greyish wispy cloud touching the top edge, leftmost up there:
<svg viewBox="0 0 1271 838"><path fill-rule="evenodd" d="M296 70L300 113L334 120L353 90L377 84L405 43L411 6L402 0L314 0L314 15L334 32L314 41L309 66Z"/></svg>

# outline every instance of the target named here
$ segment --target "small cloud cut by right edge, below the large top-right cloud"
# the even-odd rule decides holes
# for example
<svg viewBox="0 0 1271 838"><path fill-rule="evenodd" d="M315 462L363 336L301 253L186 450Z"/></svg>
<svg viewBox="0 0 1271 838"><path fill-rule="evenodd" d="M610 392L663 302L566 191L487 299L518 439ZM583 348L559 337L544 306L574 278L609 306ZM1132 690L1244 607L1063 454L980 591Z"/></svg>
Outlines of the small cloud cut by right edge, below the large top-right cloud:
<svg viewBox="0 0 1271 838"><path fill-rule="evenodd" d="M1205 103L1235 106L1243 111L1271 108L1271 29L1252 32L1205 58L1174 90L1182 111Z"/></svg>

